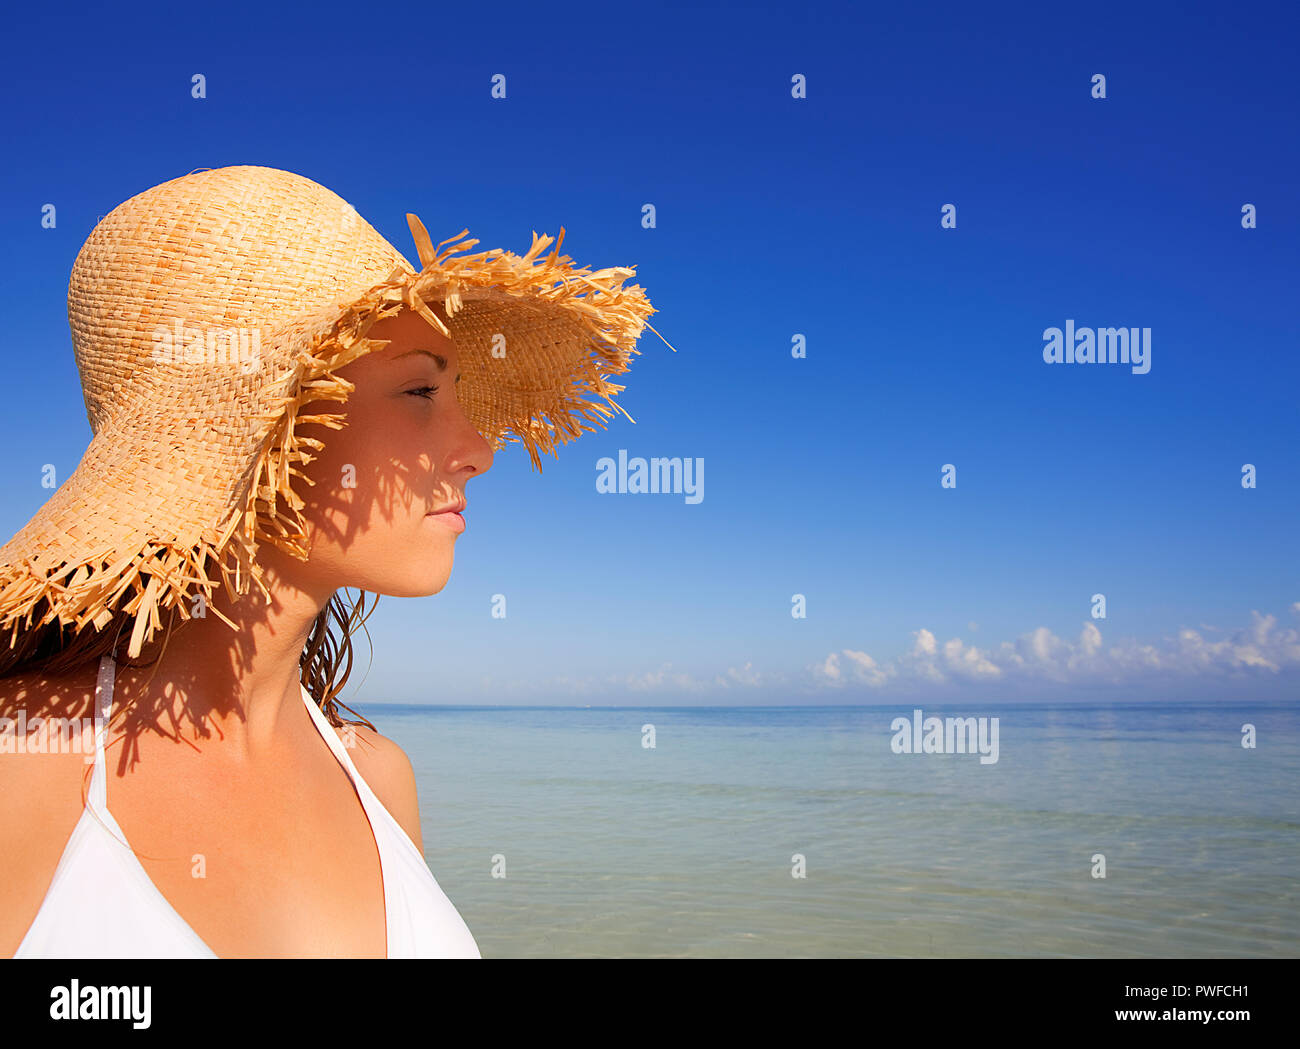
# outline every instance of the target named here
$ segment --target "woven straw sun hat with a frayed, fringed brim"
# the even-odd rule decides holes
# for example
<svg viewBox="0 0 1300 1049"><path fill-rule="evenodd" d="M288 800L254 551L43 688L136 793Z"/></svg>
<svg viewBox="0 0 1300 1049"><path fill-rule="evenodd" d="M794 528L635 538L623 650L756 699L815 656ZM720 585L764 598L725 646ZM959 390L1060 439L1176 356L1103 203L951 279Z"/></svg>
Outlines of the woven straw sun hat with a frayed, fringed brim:
<svg viewBox="0 0 1300 1049"><path fill-rule="evenodd" d="M321 445L295 422L322 420L299 409L346 399L334 372L385 346L367 331L403 304L456 343L458 398L494 450L520 442L541 471L540 452L623 412L607 377L656 312L623 287L633 268L575 268L563 227L546 256L552 238L533 233L523 256L454 257L478 243L468 230L436 251L407 221L420 270L324 186L233 166L155 186L94 229L68 287L94 439L0 547L10 647L20 629L99 629L126 610L136 656L162 610L190 617L200 590L211 607L212 563L228 593L269 597L257 545L307 556L290 476Z"/></svg>

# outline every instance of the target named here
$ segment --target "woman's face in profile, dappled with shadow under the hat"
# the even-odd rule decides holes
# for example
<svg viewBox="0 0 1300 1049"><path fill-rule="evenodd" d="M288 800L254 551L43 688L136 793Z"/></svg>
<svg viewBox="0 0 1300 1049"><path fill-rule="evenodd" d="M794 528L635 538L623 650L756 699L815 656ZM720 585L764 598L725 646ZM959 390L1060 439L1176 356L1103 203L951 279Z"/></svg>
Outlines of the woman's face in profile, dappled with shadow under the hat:
<svg viewBox="0 0 1300 1049"><path fill-rule="evenodd" d="M346 420L338 430L298 425L325 445L300 467L315 487L295 481L311 545L302 569L325 591L436 594L451 575L459 528L439 511L463 506L465 484L491 467L491 447L456 400L451 339L410 309L378 321L369 338L389 344L339 369L356 387L347 400L300 409Z"/></svg>

